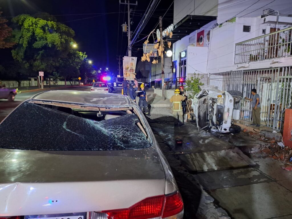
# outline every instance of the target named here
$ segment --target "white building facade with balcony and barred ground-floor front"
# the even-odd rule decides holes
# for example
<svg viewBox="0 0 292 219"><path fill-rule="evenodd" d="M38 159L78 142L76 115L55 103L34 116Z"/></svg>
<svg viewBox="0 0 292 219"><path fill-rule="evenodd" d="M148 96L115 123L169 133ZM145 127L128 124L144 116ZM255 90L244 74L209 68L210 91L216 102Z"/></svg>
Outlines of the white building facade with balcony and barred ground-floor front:
<svg viewBox="0 0 292 219"><path fill-rule="evenodd" d="M291 0L269 3L175 0L173 24L179 31L174 29L171 39L173 72L186 78L199 74L204 84L249 98L256 88L262 121L280 130L284 110L292 107L292 5ZM184 30L187 34L175 39ZM237 107L240 118L251 121L250 102Z"/></svg>

